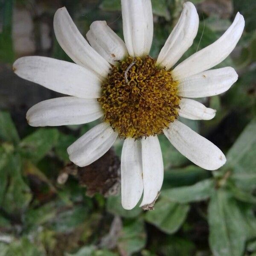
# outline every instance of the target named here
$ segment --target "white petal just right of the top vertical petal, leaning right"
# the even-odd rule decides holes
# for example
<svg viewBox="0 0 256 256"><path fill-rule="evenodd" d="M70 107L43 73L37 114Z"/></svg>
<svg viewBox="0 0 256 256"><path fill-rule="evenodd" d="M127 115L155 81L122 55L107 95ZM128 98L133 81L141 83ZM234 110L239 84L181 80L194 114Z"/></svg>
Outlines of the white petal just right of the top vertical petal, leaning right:
<svg viewBox="0 0 256 256"><path fill-rule="evenodd" d="M186 2L180 19L157 58L157 64L169 70L193 44L198 32L199 17L195 6Z"/></svg>

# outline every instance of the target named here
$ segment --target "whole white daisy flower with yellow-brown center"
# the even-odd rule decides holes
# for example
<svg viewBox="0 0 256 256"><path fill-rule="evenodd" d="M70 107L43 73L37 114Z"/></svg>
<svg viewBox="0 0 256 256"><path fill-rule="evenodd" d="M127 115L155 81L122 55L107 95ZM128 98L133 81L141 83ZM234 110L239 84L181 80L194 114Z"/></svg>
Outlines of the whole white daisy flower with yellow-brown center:
<svg viewBox="0 0 256 256"><path fill-rule="evenodd" d="M67 10L61 8L54 17L55 35L76 64L32 56L18 59L13 67L23 79L70 95L30 108L30 125L78 125L103 116L101 124L67 149L70 160L78 166L99 159L118 136L126 138L121 159L122 206L132 209L142 194L141 206L151 204L163 183L156 134L164 133L181 154L204 169L215 170L226 162L219 148L179 122L177 115L193 120L215 116L215 110L188 98L217 95L236 82L238 76L232 67L209 69L234 49L244 18L238 13L221 38L171 70L197 34L195 6L184 3L180 19L155 62L147 56L153 38L151 1L121 2L125 43L105 21L95 21L87 33L90 46Z"/></svg>

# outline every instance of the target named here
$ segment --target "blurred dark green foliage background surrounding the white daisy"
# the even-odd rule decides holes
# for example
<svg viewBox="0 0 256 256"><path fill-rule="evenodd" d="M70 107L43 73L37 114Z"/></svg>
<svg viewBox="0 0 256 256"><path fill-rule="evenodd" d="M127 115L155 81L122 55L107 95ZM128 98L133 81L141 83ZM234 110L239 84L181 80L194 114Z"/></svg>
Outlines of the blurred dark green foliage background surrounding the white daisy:
<svg viewBox="0 0 256 256"><path fill-rule="evenodd" d="M106 20L122 37L120 0L0 0L0 256L243 256L256 255L256 1L191 0L200 25L182 57L218 39L236 12L245 30L218 67L239 80L227 93L200 99L217 110L210 121L183 120L218 145L227 164L215 172L193 165L160 136L165 167L155 209L122 209L122 141L85 168L69 162L66 148L95 122L32 128L26 111L60 96L22 80L16 58L50 56L71 61L53 32L55 11L66 6L85 35ZM184 0L152 0L157 57ZM218 81L216 81L217 83Z"/></svg>

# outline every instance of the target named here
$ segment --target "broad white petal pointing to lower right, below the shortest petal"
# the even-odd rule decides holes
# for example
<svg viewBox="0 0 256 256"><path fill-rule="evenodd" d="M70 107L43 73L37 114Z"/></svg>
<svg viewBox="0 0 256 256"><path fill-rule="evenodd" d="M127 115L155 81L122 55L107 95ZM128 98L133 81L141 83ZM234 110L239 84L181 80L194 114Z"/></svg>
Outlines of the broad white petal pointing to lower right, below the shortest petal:
<svg viewBox="0 0 256 256"><path fill-rule="evenodd" d="M181 154L206 170L217 170L226 163L225 155L217 146L182 122L175 120L163 132Z"/></svg>

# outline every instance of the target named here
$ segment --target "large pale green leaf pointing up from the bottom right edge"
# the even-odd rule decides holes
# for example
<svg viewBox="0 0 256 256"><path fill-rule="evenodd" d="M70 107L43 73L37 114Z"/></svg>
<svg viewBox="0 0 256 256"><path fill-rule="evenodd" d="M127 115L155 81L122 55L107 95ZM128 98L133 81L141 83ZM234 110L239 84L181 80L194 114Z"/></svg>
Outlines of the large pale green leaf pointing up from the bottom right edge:
<svg viewBox="0 0 256 256"><path fill-rule="evenodd" d="M208 207L209 244L214 255L241 256L246 230L239 207L229 193L217 190Z"/></svg>

